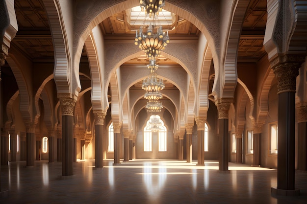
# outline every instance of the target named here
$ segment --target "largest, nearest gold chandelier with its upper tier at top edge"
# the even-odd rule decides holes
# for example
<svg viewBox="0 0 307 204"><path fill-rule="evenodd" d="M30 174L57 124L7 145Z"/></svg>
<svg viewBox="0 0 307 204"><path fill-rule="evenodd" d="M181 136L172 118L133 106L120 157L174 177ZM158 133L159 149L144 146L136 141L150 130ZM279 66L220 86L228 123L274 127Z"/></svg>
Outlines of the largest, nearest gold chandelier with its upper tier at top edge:
<svg viewBox="0 0 307 204"><path fill-rule="evenodd" d="M140 0L140 6L145 12L146 18L143 25L140 26L139 33L136 31L134 44L144 50L149 59L154 59L170 42L168 31L165 35L162 26L156 24L158 22L157 15L164 6L164 0ZM146 25L146 22L149 24Z"/></svg>

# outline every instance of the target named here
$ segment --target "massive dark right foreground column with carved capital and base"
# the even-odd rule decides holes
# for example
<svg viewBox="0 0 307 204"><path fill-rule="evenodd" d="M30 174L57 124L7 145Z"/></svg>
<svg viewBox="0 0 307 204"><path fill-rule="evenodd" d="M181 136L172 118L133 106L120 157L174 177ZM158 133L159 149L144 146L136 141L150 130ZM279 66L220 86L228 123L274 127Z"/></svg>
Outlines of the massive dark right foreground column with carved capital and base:
<svg viewBox="0 0 307 204"><path fill-rule="evenodd" d="M299 195L295 189L295 90L296 77L305 56L284 55L271 62L277 78L278 166L273 194ZM301 63L300 63L301 62Z"/></svg>

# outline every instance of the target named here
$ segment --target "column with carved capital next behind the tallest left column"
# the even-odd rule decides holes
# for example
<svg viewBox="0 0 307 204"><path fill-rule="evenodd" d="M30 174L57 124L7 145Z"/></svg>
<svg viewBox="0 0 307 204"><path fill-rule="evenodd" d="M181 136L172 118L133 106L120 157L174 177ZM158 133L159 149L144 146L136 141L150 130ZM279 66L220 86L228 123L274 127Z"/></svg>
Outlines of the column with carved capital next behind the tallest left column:
<svg viewBox="0 0 307 204"><path fill-rule="evenodd" d="M105 111L93 111L95 115L95 167L103 167L103 124Z"/></svg>

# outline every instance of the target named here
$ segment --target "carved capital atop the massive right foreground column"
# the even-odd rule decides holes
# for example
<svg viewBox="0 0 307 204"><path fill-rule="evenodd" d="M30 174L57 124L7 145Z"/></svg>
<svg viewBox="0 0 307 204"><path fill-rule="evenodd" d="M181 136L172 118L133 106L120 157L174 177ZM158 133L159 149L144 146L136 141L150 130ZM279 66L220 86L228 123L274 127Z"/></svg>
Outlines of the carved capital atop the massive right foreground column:
<svg viewBox="0 0 307 204"><path fill-rule="evenodd" d="M277 93L295 92L296 77L299 75L299 68L302 63L281 63L273 68L277 79Z"/></svg>

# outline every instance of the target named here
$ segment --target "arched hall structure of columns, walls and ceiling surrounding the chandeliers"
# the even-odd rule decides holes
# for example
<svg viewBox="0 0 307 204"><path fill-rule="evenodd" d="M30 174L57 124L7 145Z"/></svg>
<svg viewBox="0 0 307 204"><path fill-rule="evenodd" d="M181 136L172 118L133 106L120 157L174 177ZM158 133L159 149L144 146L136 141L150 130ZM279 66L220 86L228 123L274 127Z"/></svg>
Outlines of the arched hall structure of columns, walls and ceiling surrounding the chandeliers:
<svg viewBox="0 0 307 204"><path fill-rule="evenodd" d="M138 5L0 2L1 165L62 162L70 176L86 159L97 168L106 159L218 160L219 171L229 162L277 169L272 192L297 195L295 170L307 171L306 1L165 0L163 151L158 133L144 147L149 60L129 19Z"/></svg>

